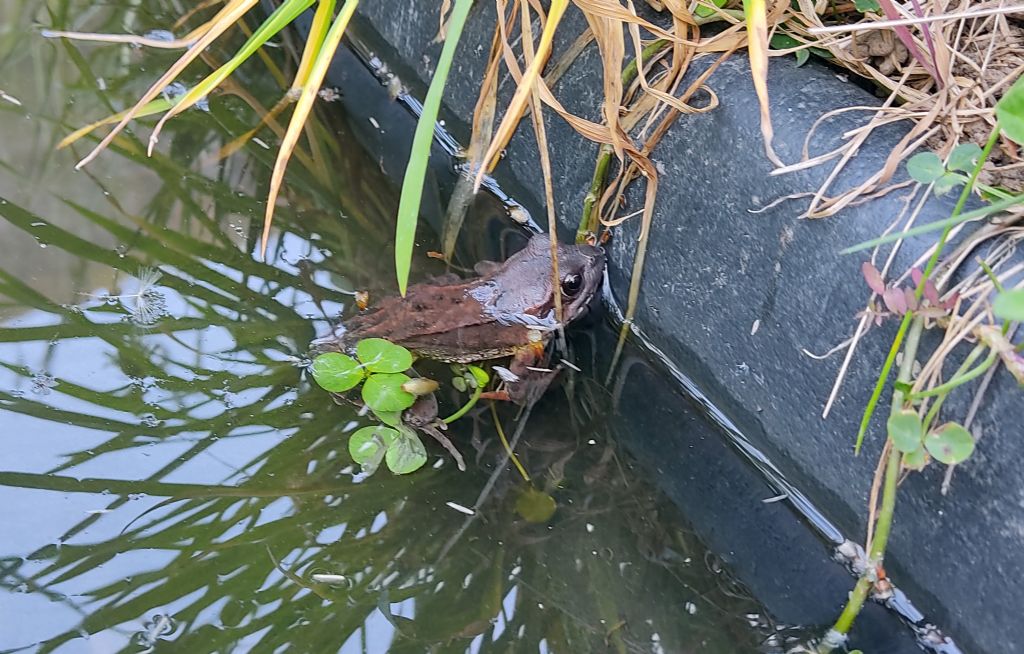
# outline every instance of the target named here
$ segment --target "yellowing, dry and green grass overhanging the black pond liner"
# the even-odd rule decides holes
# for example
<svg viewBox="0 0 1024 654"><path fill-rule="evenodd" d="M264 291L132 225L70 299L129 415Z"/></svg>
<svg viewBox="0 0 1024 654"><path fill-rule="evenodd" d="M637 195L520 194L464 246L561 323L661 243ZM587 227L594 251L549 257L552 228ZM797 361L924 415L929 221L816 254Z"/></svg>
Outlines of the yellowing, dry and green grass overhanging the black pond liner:
<svg viewBox="0 0 1024 654"><path fill-rule="evenodd" d="M209 3L208 6L212 7L214 4ZM253 33L234 57L190 89L188 93L177 98L173 103L155 99L163 88L198 56L200 51L224 34L254 4L252 0L225 2L213 18L193 31L184 39L179 40L176 44L187 45L189 50L143 94L132 110L90 126L91 128L102 123L116 122L114 131L82 160L80 166L88 163L102 147L114 142L115 136L133 118L141 116L143 113L152 114L168 110L150 141L150 149L152 150L160 128L167 120L212 91L214 87L222 85L227 75L242 60L258 51L258 48L266 42L269 36L275 34L298 12L312 6L313 1L289 0L282 3L271 17ZM395 273L401 291L404 291L409 277L431 135L444 82L470 4L468 0L457 0L446 28L441 30L445 34L445 44L427 94L425 110L413 143L413 154L406 171L398 210L398 225L395 232ZM933 275L938 276L941 272L944 275L944 280L948 280L955 264L963 261L963 258L947 258L940 261L940 255L948 237L965 222L1010 209L1024 199L1024 195L1011 192L985 209L962 214L966 200L976 187L982 187L979 181L980 177L995 176L994 179L989 180L992 182L991 185L1001 183L1014 192L1019 192L1024 187L1024 184L1020 183L1019 175L1015 172L1021 169L1019 154L1015 155L1016 150L1009 146L1000 148L1000 150L993 149L996 139L999 138L998 130L994 127L996 125L994 112L998 106L997 101L1013 80L1020 75L1021 70L1024 70L1024 62L1013 58L1015 45L1024 44L1024 31L1008 24L1004 15L1005 11L1013 10L1012 8L992 7L987 6L992 3L982 3L986 6L972 7L971 11L957 12L951 10L954 7L932 6L928 3L913 2L910 8L903 9L890 0L882 0L878 9L890 18L889 24L883 24L877 20L881 17L879 14L869 10L863 12L858 10L856 3L852 6L843 4L822 8L821 3L798 0L795 3L776 2L769 7L762 0L742 0L742 2L725 2L722 7L714 6L718 3L714 3L714 5L701 3L699 10L697 10L696 5L686 5L678 0L667 1L664 4L649 4L660 12L659 15L664 18L660 23L655 23L654 18L648 17L649 12L641 16L631 2L578 0L574 3L579 10L584 13L588 23L587 32L580 35L574 43L585 45L589 42L595 42L602 55L603 101L600 107L601 120L594 122L566 111L551 91L554 80L546 79L543 75L549 59L555 54L553 43L568 8L567 0L554 0L547 11L539 3L527 3L525 0L498 0L496 37L474 117L474 135L470 148L470 170L473 171L474 187L479 188L483 176L497 165L500 152L507 146L522 118L529 112L538 142L541 145L540 157L545 170L545 197L549 220L553 223L554 180L551 179L549 170L549 155L546 147L544 117L542 115L544 108L548 107L554 111L581 135L598 145L594 181L585 200L583 221L578 231L578 238L597 239L601 237L597 233L598 231L607 232L637 214L641 216L640 220L642 221L618 351L621 351L623 341L628 334L639 298L647 238L656 202L658 174L650 160L650 155L662 135L680 113L714 108L717 98L713 91L705 86L705 82L716 66L739 48L745 47L751 57L752 77L759 98L757 119L764 139L765 156L776 167L774 174L783 174L820 165L833 166L824 183L812 193L811 201L803 214L806 217L830 216L865 198L891 192L897 187L891 183L891 180L899 166L922 146L930 146L945 157L952 150L953 146L964 141L973 140L979 144L980 142L986 143L983 156L974 168L969 183L965 186L956 209L949 219L931 225L907 226L895 233L860 244L851 250L877 248L891 243L895 243L898 248L899 244L906 237L941 229L942 235L938 243L925 256L927 264L924 278L927 281ZM966 6L966 3L962 4ZM737 6L739 5L742 8L742 20L737 18L739 15ZM446 11L446 7L445 3L442 14ZM335 3L333 1L317 3L313 29L310 31L310 38L299 67L299 74L296 76L295 88L301 89L298 94L298 104L293 113L292 122L282 139L282 146L271 178L269 201L265 208L262 248L266 247L270 233L270 222L278 209L275 201L284 183L285 167L293 149L298 145L302 125L312 110L327 61L333 56L354 8L355 0L348 0L343 5L338 17L334 18L334 23L328 29L329 20L334 14ZM941 15L941 12L947 9L949 10L947 15ZM530 28L531 10L542 25L541 36L537 43L534 41ZM691 10L696 10L697 15L691 13ZM933 15L928 15L930 12ZM939 13L939 15L935 15L935 13ZM521 16L518 26L515 20L516 15ZM899 20L892 23L893 19L897 18ZM714 36L701 37L700 27L713 20L720 21L727 27ZM883 27L885 30L895 30L895 39L889 32L880 29ZM61 35L68 36L67 33L61 33ZM647 37L646 42L644 37ZM94 35L88 38L94 38ZM782 38L788 39L785 49L775 48L774 45L781 43ZM136 42L142 43L142 41ZM515 47L517 42L518 49ZM797 46L791 47L793 43L796 43ZM633 46L633 60L627 66L624 73L623 64L627 57L628 44ZM881 47L880 44L889 49L886 50L886 47ZM580 49L583 45L580 45ZM801 160L784 164L775 155L771 143L772 128L767 86L768 60L771 56L806 51L811 48L817 53L830 57L834 63L844 66L853 73L874 81L881 88L888 90L889 96L881 107L867 110L871 113L870 120L861 128L847 134L840 146L812 158L808 152L815 129L836 113L821 117L807 136ZM879 54L883 51L884 54ZM579 52L579 49L575 52ZM710 52L719 53L716 63L680 93L679 86L693 57ZM999 59L997 54L1002 54L1002 59ZM520 59L522 61L521 69ZM1014 61L1017 62L1014 63ZM516 89L503 119L497 129L493 129L497 78L502 62L515 80ZM561 70L564 70L562 63L559 61ZM975 83L974 80L978 80L978 82ZM699 90L706 91L711 101L701 106L693 106L689 103L690 98ZM271 114L283 111L286 103L286 100L283 99ZM1006 104L1004 104L1005 107ZM850 111L861 110L862 107L850 108ZM833 183L868 136L874 130L891 122L901 120L912 121L914 126L894 148L880 170L852 188L839 192L831 190ZM1004 119L1000 117L1000 120ZM1006 120L1004 120L1004 124L1007 124ZM83 128L83 130L76 132L73 137L82 136L88 129ZM979 135L982 135L982 141L979 141ZM73 137L69 137L69 141L74 140ZM986 138L987 141L984 140ZM994 161L996 152L999 156L998 162ZM645 184L643 207L638 212L624 214L622 210L624 193L631 183L640 178L643 178ZM1016 187L1015 184L1017 184ZM1010 225L1011 223L1006 223L1004 226L1009 228ZM454 247L457 231L458 227L456 226L452 228L451 233L445 233L444 252L446 254L450 254ZM893 260L894 254L895 250L890 255L890 262ZM948 266L944 267L945 262L948 262ZM888 264L886 268L888 268ZM961 292L964 297L978 296L990 292L991 286L985 279L975 277L971 284L964 286ZM918 285L914 291L914 302L921 302L925 288L924 284ZM983 295L981 300L977 303L979 306L985 304ZM861 318L857 334L848 346L847 360L842 367L844 372L847 369L847 364L853 355L857 342L867 329L870 317L868 314L871 313L872 306L872 304L868 305L869 310ZM921 377L912 381L921 388L915 386L914 393L909 397L927 399L931 397L935 389L940 389L944 393L945 389L955 388L955 386L943 386L939 380L939 372L941 370L941 361L944 360L952 346L958 340L966 338L966 334L975 334L978 328L980 318L973 317L968 320L967 315L965 313L963 319L959 319L959 316L954 313L948 320L946 331L951 344L946 349L934 354L932 359L926 361L925 369L932 370L932 373L929 377ZM880 372L878 384L864 412L864 419L857 435L856 448L858 450L870 424L874 407L881 401L886 389L891 368L896 365L898 355L902 351L904 356L913 358L912 353L903 347L903 339L906 337L908 341L916 344L920 330L923 329L923 319L922 316L914 315L913 311L905 311L902 315L896 339L892 343L889 356ZM995 349L993 348L992 351L994 352ZM904 368L905 366L900 368L899 384L911 383L911 380L906 377ZM984 372L965 370L959 379L963 380L964 376L968 374L977 377ZM826 403L825 413L831 405L831 398L839 391L842 378L843 373L839 376L833 395ZM902 399L903 397L903 390L894 391L894 398ZM928 415L931 417L929 423L934 420L942 397L944 395L940 393L939 399L929 410ZM900 401L895 403L900 403ZM890 447L886 457L883 506L878 527L873 526L873 518L870 521L871 528L877 528L877 531L874 537L869 538L870 542L867 548L872 558L877 557L880 561L885 550L885 535L888 534L891 526L891 509L895 503L895 496L892 493L895 492L895 480L900 471L900 462L896 450ZM893 472L894 470L895 472ZM872 516L873 511L872 503ZM863 591L863 595L857 596L861 604L870 586L864 581L864 578L866 577L862 577L858 581L856 592L861 594ZM861 587L862 585L863 587ZM853 617L856 616L859 606L854 607L853 604L851 603L848 610L844 612L837 625L838 630L848 629Z"/></svg>

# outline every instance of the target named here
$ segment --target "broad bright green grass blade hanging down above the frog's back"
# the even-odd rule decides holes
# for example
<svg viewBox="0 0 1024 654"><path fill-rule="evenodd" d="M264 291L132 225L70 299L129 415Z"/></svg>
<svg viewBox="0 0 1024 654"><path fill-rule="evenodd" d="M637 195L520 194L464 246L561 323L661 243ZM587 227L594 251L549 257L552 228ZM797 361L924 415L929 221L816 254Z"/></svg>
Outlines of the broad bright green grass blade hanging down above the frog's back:
<svg viewBox="0 0 1024 654"><path fill-rule="evenodd" d="M437 123L437 113L441 106L441 95L444 93L444 83L447 81L455 50L466 25L466 16L472 6L472 0L456 0L449 20L447 38L437 59L437 70L430 80L427 97L423 101L423 113L416 125L416 135L413 137L413 148L406 167L406 177L401 184L401 199L398 202L398 221L394 231L394 272L398 278L398 291L406 295L409 285L409 268L413 260L413 241L416 238L416 223L420 219L420 200L423 197L423 182L427 176L427 161L430 159L430 145L433 142L434 125Z"/></svg>

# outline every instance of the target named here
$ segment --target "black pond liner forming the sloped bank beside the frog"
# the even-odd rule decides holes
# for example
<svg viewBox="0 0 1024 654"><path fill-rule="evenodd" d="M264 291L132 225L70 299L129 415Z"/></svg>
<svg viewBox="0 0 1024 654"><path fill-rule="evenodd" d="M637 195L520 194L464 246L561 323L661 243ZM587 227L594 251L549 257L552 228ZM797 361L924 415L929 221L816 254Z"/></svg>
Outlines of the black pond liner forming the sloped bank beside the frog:
<svg viewBox="0 0 1024 654"><path fill-rule="evenodd" d="M493 6L474 9L445 92L445 130L463 143L493 20ZM582 29L581 16L570 13L567 20L559 37L563 43ZM432 73L440 49L433 43L436 30L434 8L424 10L412 0L367 3L352 26L364 59L376 59L378 78L397 76L412 97L423 96ZM410 106L395 101L366 69L355 71L353 57L351 51L339 54L328 84L342 91L352 120L386 126L366 129L364 145L380 152L382 167L400 179L415 128ZM695 61L694 71L702 64ZM591 49L562 77L555 94L569 111L596 118L600 84L593 81L599 75ZM839 252L882 233L900 211L902 195L890 193L819 220L799 219L799 201L752 213L776 199L816 189L829 168L769 174L749 63L741 55L722 64L709 85L720 106L680 117L652 156L662 174L635 319L634 342L643 352L630 350L631 364L620 367L618 438L777 619L827 625L853 585L843 566L828 560L829 550L842 538L863 537L887 396L858 456L853 442L895 324L888 320L861 342L826 420L821 409L842 356L817 360L805 352L827 351L853 333L854 316L868 295L860 273L865 256ZM510 89L506 76L500 107ZM769 92L774 146L786 162L799 159L807 131L825 112L880 104L835 70L813 61L798 67L791 57L771 59ZM597 146L557 117L547 123L557 211L567 235L590 185ZM863 116L851 114L824 122L812 155L861 124ZM906 130L898 124L877 130L837 185L850 187L878 170ZM451 191L455 174L450 152L438 142L431 163L424 216L436 224L439 199ZM544 215L531 130L518 130L496 177L515 199L510 202L521 203L535 217ZM628 200L639 207L635 189ZM947 217L951 207L950 198L930 200L918 224ZM639 220L627 221L609 246L612 302L626 297L638 229ZM908 241L893 269L905 269L930 244L924 237ZM925 341L928 352L935 335L926 333ZM638 370L646 377L631 381ZM891 612L865 607L853 641L866 651L920 646L954 652L961 651L957 645L973 652L1024 651L1024 621L1018 617L1024 605L1024 468L1016 463L1020 393L1009 375L993 378L974 423L975 433L983 435L978 452L958 467L948 495L939 492L944 470L935 465L901 485L886 558L901 591L889 602ZM951 395L945 416L962 418L971 395ZM729 446L693 451L697 443L715 441ZM740 461L736 451L755 464L744 468L755 471L756 479L735 467L719 470L723 462ZM790 490L780 492L780 483ZM778 495L784 495L781 502L764 502ZM814 527L804 530L813 533L812 540L792 528L795 517ZM916 645L905 629L892 629L894 613L911 626ZM938 630L930 630L931 624ZM950 640L935 642L938 633Z"/></svg>

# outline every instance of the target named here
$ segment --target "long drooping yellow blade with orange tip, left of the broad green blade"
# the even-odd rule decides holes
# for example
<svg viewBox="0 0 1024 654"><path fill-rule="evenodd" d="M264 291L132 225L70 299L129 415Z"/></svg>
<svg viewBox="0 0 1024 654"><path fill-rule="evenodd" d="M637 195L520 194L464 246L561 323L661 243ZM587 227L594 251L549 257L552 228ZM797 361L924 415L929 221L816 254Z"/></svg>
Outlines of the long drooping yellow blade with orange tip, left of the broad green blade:
<svg viewBox="0 0 1024 654"><path fill-rule="evenodd" d="M278 149L278 161L274 162L273 173L270 177L270 193L266 201L266 213L263 216L263 235L260 239L261 258L266 256L266 244L270 236L270 223L273 222L273 208L278 203L281 185L285 180L285 169L288 168L288 160L291 158L292 150L295 149L295 145L299 141L299 135L302 133L306 119L313 110L313 101L316 99L316 94L319 92L324 78L327 76L327 71L331 66L331 60L334 58L334 53L338 50L341 38L345 35L345 29L348 27L348 21L352 18L352 14L355 12L355 7L358 4L358 0L345 0L341 11L338 12L338 16L334 19L334 24L328 31L327 37L324 39L324 43L313 60L313 64L309 71L309 79L302 87L302 93L299 95L299 101L295 104L295 113L292 114L292 120L288 124L285 138L281 141L281 147Z"/></svg>

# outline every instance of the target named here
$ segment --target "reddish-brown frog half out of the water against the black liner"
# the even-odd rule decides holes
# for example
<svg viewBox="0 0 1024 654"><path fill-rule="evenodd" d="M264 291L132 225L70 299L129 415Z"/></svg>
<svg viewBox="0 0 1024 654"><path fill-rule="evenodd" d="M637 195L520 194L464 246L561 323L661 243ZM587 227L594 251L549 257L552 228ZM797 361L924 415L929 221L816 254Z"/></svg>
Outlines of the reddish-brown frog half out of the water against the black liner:
<svg viewBox="0 0 1024 654"><path fill-rule="evenodd" d="M383 338L415 354L469 363L543 352L556 328L555 293L563 324L582 315L601 285L604 252L587 245L558 246L559 284L553 288L547 234L537 234L505 263L454 284L419 284L404 298L387 298L347 321L340 333L313 342L319 350L349 350L367 338ZM513 366L513 370L515 367Z"/></svg>

